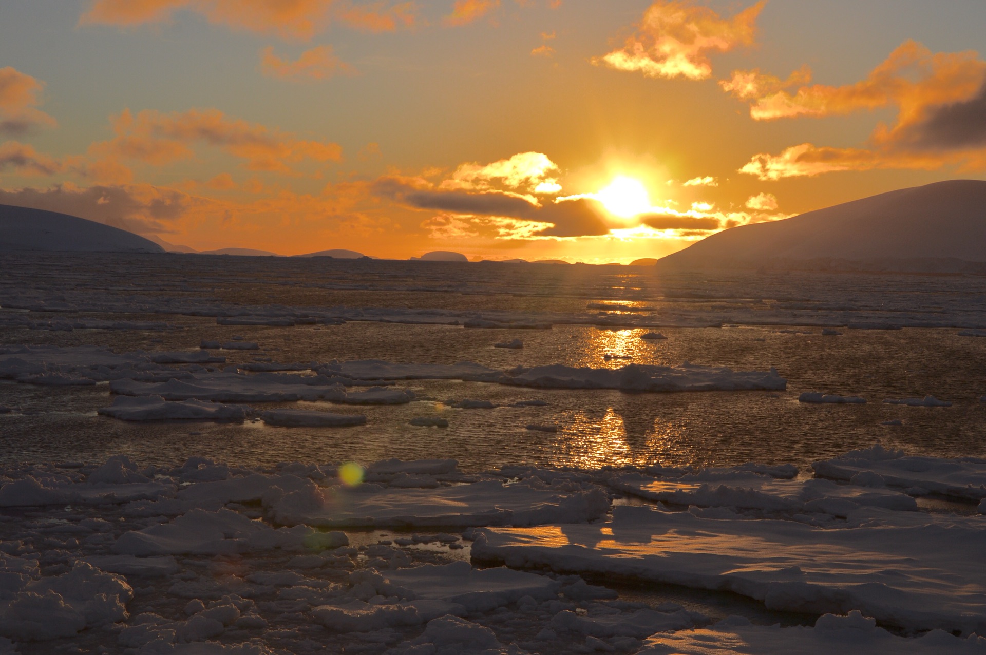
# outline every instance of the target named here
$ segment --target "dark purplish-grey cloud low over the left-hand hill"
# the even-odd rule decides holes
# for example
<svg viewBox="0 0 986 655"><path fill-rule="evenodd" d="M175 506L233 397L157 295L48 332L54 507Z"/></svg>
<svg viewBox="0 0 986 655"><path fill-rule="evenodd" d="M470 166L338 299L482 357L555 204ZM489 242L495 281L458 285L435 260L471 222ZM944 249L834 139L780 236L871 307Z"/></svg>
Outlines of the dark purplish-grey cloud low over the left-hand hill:
<svg viewBox="0 0 986 655"><path fill-rule="evenodd" d="M141 234L173 231L169 224L181 218L191 202L181 192L153 187L140 193L124 186L0 189L2 205L68 214Z"/></svg>

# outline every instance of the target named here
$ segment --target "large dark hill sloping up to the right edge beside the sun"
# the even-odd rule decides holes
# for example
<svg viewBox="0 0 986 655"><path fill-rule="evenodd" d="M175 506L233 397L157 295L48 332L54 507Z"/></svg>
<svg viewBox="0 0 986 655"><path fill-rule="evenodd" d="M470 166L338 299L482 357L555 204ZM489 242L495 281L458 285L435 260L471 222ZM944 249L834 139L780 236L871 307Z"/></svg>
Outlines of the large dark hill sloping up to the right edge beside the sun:
<svg viewBox="0 0 986 655"><path fill-rule="evenodd" d="M936 182L784 221L726 229L658 265L915 272L970 268L962 262L986 262L986 181Z"/></svg>

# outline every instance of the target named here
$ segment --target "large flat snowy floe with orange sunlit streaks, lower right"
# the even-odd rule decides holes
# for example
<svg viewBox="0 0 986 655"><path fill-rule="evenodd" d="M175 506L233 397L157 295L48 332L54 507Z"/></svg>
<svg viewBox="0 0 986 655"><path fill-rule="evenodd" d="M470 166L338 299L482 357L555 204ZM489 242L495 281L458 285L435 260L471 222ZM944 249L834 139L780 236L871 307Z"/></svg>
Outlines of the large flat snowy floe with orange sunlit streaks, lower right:
<svg viewBox="0 0 986 655"><path fill-rule="evenodd" d="M512 567L632 576L730 590L788 612L857 609L889 625L986 629L982 527L819 529L787 520L702 518L613 507L590 525L486 528L472 556Z"/></svg>

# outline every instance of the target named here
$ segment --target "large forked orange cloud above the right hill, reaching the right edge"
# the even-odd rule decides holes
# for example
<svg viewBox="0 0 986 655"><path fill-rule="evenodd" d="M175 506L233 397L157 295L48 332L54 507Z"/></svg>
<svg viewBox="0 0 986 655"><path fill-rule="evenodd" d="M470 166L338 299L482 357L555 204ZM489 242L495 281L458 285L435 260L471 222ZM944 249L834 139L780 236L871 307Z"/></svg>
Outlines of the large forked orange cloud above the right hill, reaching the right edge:
<svg viewBox="0 0 986 655"><path fill-rule="evenodd" d="M986 61L975 52L932 53L920 43L906 41L856 84L805 86L794 94L770 90L759 98L751 91L758 82L751 78L751 84L737 86L741 77L735 73L727 90L752 99L750 115L757 120L839 115L884 106L896 106L897 116L892 125L877 126L869 149L804 143L779 155L757 154L740 172L777 180L837 170L986 167Z"/></svg>

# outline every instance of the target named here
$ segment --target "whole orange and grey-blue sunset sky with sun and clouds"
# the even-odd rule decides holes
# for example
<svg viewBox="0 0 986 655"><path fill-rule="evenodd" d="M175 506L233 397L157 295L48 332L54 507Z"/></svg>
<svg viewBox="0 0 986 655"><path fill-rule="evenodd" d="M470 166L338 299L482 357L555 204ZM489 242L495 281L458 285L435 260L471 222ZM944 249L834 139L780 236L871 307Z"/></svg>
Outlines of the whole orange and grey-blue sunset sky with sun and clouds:
<svg viewBox="0 0 986 655"><path fill-rule="evenodd" d="M0 204L628 263L986 179L981 0L4 0Z"/></svg>

